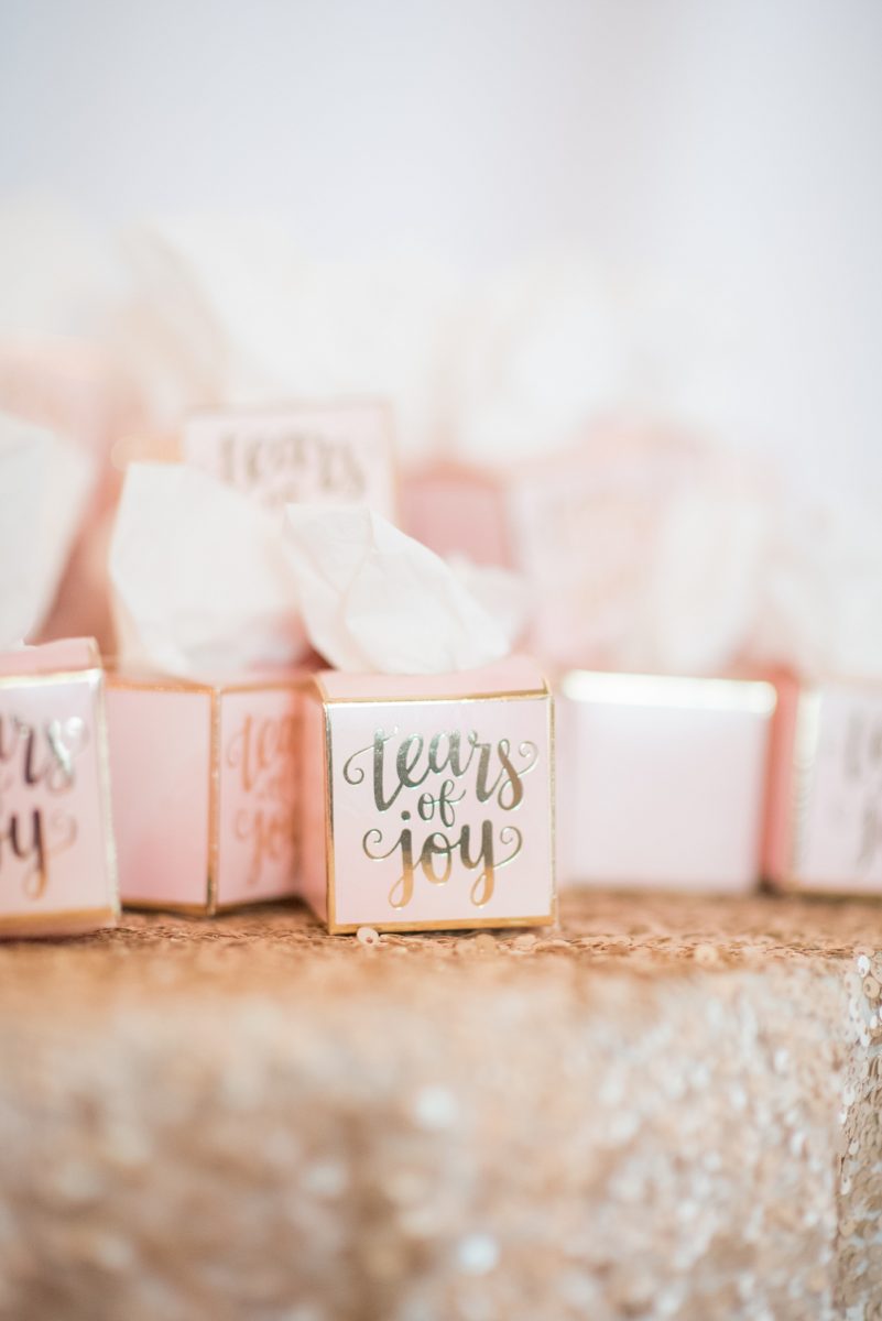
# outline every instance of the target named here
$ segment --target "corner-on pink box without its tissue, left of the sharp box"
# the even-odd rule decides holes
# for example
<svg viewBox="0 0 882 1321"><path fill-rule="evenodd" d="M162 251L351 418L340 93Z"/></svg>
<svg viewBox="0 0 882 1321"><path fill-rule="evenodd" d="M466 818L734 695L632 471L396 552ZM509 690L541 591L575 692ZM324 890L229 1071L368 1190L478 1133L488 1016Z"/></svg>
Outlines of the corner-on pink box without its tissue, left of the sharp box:
<svg viewBox="0 0 882 1321"><path fill-rule="evenodd" d="M211 914L296 893L301 683L108 675L124 904Z"/></svg>

